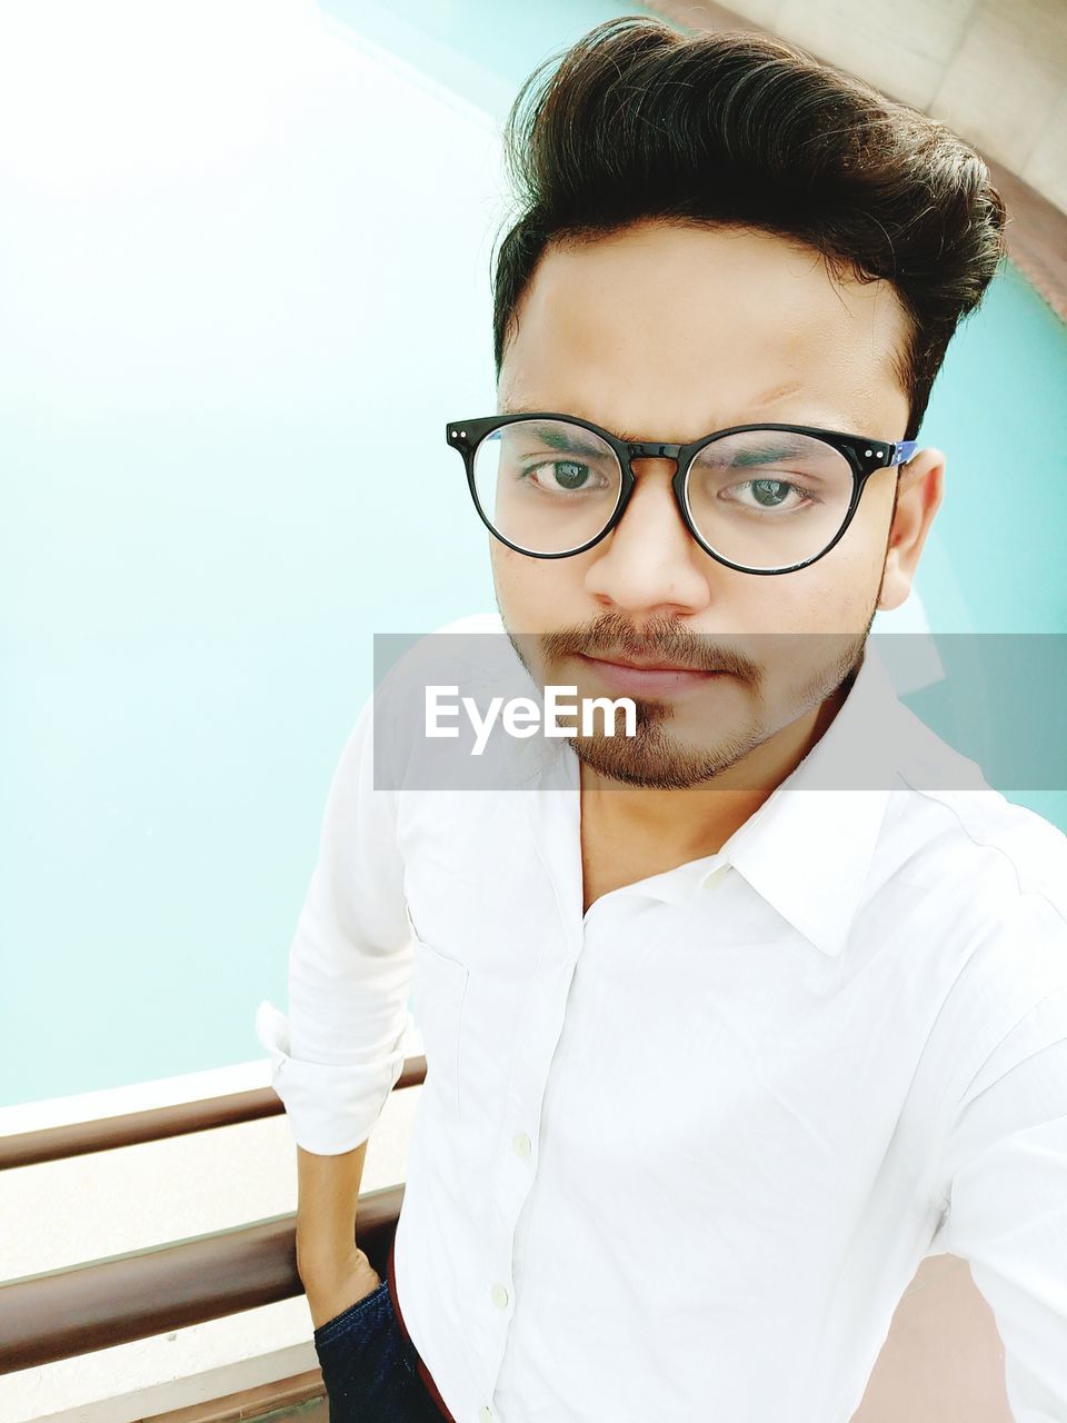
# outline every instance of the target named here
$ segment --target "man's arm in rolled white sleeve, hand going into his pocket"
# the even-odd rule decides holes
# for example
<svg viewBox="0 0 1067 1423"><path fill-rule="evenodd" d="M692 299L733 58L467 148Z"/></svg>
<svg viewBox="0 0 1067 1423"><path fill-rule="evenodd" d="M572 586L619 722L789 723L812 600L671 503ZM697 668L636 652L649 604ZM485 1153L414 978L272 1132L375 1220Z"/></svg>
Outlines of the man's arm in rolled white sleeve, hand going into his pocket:
<svg viewBox="0 0 1067 1423"><path fill-rule="evenodd" d="M297 1147L297 1268L316 1325L378 1282L356 1244L356 1207L367 1138L403 1070L410 1022L396 795L374 788L373 770L367 703L333 777L292 941L289 1019L270 1003L256 1016Z"/></svg>

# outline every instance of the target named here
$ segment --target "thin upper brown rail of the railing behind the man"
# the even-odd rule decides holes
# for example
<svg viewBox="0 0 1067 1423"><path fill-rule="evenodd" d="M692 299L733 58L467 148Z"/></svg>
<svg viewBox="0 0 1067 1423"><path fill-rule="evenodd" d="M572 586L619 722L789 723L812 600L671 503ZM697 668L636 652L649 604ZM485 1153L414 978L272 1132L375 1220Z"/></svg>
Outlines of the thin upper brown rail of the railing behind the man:
<svg viewBox="0 0 1067 1423"><path fill-rule="evenodd" d="M424 1077L425 1056L405 1057L403 1072L393 1090L417 1087ZM273 1087L252 1087L248 1091L232 1091L222 1097L179 1101L168 1107L149 1107L145 1111L127 1111L117 1117L71 1121L60 1127L41 1127L37 1131L18 1131L0 1137L0 1171L10 1171L20 1165L38 1165L43 1161L63 1161L67 1157L87 1155L92 1151L111 1151L115 1147L138 1146L144 1141L162 1141L166 1137L181 1137L191 1131L232 1127L240 1121L256 1121L282 1111L285 1107Z"/></svg>

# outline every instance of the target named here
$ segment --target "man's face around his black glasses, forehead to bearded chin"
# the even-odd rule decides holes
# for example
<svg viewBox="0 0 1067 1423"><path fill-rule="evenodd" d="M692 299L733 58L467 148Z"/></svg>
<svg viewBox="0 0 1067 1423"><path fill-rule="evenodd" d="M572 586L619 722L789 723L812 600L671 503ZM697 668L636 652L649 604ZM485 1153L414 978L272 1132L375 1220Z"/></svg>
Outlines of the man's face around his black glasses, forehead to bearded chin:
<svg viewBox="0 0 1067 1423"><path fill-rule="evenodd" d="M674 444L764 421L905 433L892 359L906 326L892 287L838 280L814 250L764 232L646 222L549 249L518 317L501 413L558 411ZM585 554L536 559L491 538L498 608L535 680L637 703L637 737L578 737L578 754L609 780L664 788L721 781L771 747L858 665L875 609L906 596L899 573L889 601L882 588L895 468L866 481L827 555L770 576L700 548L674 504L674 470L636 460L622 521ZM706 675L626 690L612 656Z"/></svg>

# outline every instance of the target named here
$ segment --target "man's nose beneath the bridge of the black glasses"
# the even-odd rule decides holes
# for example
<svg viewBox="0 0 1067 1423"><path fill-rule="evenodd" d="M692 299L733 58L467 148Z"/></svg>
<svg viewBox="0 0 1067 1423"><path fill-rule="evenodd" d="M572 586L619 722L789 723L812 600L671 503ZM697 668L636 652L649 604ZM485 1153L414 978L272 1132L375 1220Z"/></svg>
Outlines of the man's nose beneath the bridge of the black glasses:
<svg viewBox="0 0 1067 1423"><path fill-rule="evenodd" d="M589 592L627 612L656 608L699 612L711 591L711 562L686 528L674 501L674 460L635 458L637 482L622 519L595 549L586 575Z"/></svg>

